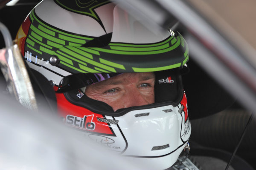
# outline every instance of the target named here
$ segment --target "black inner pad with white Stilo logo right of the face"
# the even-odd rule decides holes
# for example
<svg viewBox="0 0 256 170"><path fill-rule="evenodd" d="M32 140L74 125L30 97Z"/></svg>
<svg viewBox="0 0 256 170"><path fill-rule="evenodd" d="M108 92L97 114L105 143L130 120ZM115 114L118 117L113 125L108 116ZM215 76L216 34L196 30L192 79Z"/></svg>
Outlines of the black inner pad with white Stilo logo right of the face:
<svg viewBox="0 0 256 170"><path fill-rule="evenodd" d="M183 97L180 69L169 69L155 73L155 103L172 101L178 103Z"/></svg>

